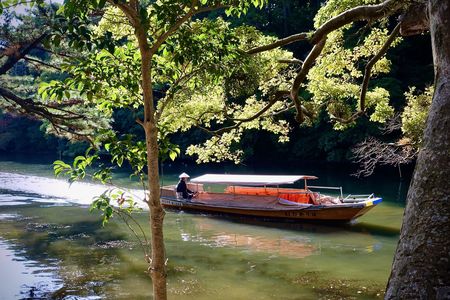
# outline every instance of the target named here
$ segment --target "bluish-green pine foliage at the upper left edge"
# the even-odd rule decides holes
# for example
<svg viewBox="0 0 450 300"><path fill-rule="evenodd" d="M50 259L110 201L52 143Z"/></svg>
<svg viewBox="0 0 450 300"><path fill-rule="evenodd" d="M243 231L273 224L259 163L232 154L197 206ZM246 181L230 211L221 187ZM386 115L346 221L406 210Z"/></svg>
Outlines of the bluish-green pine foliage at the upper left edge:
<svg viewBox="0 0 450 300"><path fill-rule="evenodd" d="M54 40L54 28L67 24L57 17L56 5L38 2L32 1L26 14L8 15L0 33L0 108L45 119L41 128L46 133L89 140L99 130L109 127L108 115L99 113L91 105L82 105L81 99L69 91L65 91L64 100L38 95L40 84L67 77L59 68L64 58L80 54L75 54L60 40L50 45Z"/></svg>

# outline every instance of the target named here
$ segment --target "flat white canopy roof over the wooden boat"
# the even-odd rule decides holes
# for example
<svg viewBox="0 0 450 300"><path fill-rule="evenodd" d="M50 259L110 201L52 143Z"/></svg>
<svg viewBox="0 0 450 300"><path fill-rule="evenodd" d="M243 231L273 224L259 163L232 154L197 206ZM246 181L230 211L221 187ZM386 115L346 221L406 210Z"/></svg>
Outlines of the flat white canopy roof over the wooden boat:
<svg viewBox="0 0 450 300"><path fill-rule="evenodd" d="M191 180L193 183L242 184L253 186L293 184L298 180L317 179L310 175L235 175L205 174Z"/></svg>

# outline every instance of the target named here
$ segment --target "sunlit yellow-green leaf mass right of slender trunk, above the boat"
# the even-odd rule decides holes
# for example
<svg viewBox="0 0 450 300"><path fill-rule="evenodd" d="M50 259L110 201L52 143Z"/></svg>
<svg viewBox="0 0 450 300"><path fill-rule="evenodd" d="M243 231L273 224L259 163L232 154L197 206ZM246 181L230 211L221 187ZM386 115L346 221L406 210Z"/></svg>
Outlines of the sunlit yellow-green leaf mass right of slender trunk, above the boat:
<svg viewBox="0 0 450 300"><path fill-rule="evenodd" d="M168 43L156 58L158 64L165 62L158 70L173 67L173 72L180 72L181 77L183 72L195 72L194 76L186 77L188 80L182 85L171 86L169 95L159 103L158 109L164 109L161 122L167 124L169 131L187 131L196 126L208 130L226 127L258 113L275 91L288 88L294 73L278 60L292 58L290 52L278 49L252 57L240 52L240 49L271 42L273 38L252 27L230 29L221 19L195 21L189 30L194 33L188 35L189 42L181 39ZM192 46L194 41L198 45ZM184 68L179 67L180 61L170 59L171 53L178 49L184 49L184 57L189 58L184 61ZM196 70L195 66L202 68ZM166 80L173 82L170 78ZM279 100L261 118L242 122L240 129L232 131L232 136L230 133L213 136L203 144L189 147L187 153L198 156L198 162L224 159L237 162L242 154L237 150L242 132L249 129L267 130L279 135L280 141L287 141L287 122L272 115L286 107L286 103Z"/></svg>

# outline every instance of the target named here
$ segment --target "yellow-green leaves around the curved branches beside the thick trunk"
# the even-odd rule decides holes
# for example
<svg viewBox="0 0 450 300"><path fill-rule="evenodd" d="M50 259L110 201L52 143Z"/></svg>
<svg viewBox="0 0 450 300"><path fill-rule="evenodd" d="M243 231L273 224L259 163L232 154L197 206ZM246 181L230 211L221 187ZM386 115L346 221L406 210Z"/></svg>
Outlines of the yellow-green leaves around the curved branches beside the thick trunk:
<svg viewBox="0 0 450 300"><path fill-rule="evenodd" d="M350 7L373 2L376 1L328 1L317 13L315 27ZM325 106L332 119L349 119L354 111L361 109L358 107L363 77L361 61L368 61L374 56L389 36L386 20L377 23L378 26L372 25L370 28L347 25L330 33L322 55L308 74L307 90L312 94L314 107L319 109ZM363 37L352 41L351 38L361 31ZM397 38L393 46L400 41ZM391 62L386 57L381 58L374 65L371 76L389 73L390 66ZM371 121L384 123L393 116L394 109L389 100L389 92L382 87L373 87L367 92L366 107ZM352 124L354 122L336 123L335 129L345 129Z"/></svg>

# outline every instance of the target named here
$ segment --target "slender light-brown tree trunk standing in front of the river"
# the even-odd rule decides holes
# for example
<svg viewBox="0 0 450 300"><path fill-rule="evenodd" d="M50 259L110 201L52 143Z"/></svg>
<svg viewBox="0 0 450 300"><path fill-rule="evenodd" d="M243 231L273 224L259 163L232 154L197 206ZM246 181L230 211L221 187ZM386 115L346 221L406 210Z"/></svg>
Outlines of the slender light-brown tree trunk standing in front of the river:
<svg viewBox="0 0 450 300"><path fill-rule="evenodd" d="M158 171L158 129L154 117L153 88L151 77L152 53L143 29L136 30L139 41L142 65L142 90L144 97L145 141L147 145L147 173L149 188L149 225L152 234L152 257L150 276L153 283L153 297L156 300L167 299L166 253L164 247L163 223L165 212L161 206Z"/></svg>

